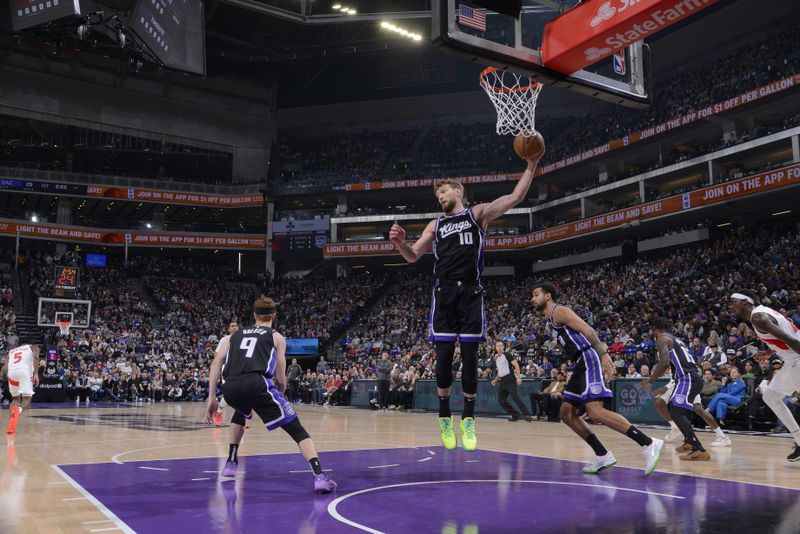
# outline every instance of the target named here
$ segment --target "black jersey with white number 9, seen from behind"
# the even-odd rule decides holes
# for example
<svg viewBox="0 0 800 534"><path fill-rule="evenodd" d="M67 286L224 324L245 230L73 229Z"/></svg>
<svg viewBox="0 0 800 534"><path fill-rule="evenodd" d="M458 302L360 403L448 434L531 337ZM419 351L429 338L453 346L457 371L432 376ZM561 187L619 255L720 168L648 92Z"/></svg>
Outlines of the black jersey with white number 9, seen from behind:
<svg viewBox="0 0 800 534"><path fill-rule="evenodd" d="M269 326L240 328L231 336L222 377L259 373L273 378L278 353L272 341L274 330Z"/></svg>

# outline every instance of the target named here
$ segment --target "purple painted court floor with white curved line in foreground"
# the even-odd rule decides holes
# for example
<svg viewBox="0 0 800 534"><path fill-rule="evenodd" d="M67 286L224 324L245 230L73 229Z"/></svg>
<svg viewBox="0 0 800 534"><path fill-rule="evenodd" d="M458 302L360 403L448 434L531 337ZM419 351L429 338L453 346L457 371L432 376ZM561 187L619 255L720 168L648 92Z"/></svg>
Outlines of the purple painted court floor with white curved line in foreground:
<svg viewBox="0 0 800 534"><path fill-rule="evenodd" d="M442 447L322 461L336 495L313 495L299 454L242 457L222 482L215 458L60 467L139 533L800 531L800 492L783 488L621 467L590 476L576 462Z"/></svg>

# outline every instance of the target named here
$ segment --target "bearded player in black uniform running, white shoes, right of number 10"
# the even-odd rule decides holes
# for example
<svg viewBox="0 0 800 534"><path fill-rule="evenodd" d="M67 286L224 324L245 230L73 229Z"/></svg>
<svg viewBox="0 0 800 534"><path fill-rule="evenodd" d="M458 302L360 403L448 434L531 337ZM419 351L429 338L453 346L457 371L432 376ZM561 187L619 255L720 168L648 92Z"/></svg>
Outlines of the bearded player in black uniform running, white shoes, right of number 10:
<svg viewBox="0 0 800 534"><path fill-rule="evenodd" d="M533 287L531 302L537 312L548 318L550 328L558 335L564 347L564 358L575 362L575 370L564 387L564 402L559 413L561 420L578 434L594 451L597 458L583 468L587 474L596 474L617 463L597 436L578 417L578 408L586 407L592 421L602 423L620 434L624 434L642 447L647 467L645 475L652 473L658 465L664 442L650 438L618 413L606 410L603 399L611 397L606 378L614 372L614 364L608 356L608 347L600 341L594 328L567 308L556 303L558 290L547 282Z"/></svg>

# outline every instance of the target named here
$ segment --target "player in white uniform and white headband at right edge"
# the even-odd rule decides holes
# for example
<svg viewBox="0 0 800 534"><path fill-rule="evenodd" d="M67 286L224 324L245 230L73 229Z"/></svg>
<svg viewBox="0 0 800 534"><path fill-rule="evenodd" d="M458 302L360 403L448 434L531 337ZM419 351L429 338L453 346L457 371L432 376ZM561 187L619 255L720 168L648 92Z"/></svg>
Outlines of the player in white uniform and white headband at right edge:
<svg viewBox="0 0 800 534"><path fill-rule="evenodd" d="M766 343L783 360L783 370L761 387L764 402L772 409L794 438L794 451L786 459L800 460L800 426L783 403L786 395L800 390L800 328L772 308L756 305L751 291L731 295L731 309L742 321L753 325L758 339Z"/></svg>

